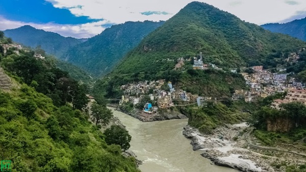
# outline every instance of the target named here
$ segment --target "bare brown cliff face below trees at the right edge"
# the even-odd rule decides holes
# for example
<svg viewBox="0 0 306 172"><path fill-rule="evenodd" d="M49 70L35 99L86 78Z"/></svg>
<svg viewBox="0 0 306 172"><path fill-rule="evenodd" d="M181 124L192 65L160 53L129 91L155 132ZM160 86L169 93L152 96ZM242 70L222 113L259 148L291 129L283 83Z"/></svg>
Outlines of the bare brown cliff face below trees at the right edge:
<svg viewBox="0 0 306 172"><path fill-rule="evenodd" d="M267 130L273 132L288 132L294 128L294 121L287 118L267 119Z"/></svg>

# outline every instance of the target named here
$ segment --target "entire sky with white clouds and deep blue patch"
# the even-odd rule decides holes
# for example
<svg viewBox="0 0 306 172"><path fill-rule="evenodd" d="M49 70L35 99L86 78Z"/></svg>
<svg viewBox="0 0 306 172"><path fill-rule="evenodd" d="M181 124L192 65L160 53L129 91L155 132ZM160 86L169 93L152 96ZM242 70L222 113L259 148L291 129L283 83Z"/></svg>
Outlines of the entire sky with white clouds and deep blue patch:
<svg viewBox="0 0 306 172"><path fill-rule="evenodd" d="M88 38L125 21L167 20L191 0L0 0L0 30L29 24ZM306 0L203 0L242 20L264 24L306 17Z"/></svg>

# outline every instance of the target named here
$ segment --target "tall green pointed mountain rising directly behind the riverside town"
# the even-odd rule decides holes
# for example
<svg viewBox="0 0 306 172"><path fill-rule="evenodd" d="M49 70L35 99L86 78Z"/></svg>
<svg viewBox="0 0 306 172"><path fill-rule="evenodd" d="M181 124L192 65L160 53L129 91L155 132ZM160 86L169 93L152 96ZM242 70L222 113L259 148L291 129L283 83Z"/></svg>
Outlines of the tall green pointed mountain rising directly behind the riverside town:
<svg viewBox="0 0 306 172"><path fill-rule="evenodd" d="M192 2L145 37L107 77L96 82L93 92L117 97L122 94L120 85L166 79L175 89L227 99L235 89L245 88L243 77L229 68L268 68L305 45L211 5ZM213 63L223 71L193 70L192 60L185 61L182 69L174 69L177 59L199 57L200 52L204 63Z"/></svg>

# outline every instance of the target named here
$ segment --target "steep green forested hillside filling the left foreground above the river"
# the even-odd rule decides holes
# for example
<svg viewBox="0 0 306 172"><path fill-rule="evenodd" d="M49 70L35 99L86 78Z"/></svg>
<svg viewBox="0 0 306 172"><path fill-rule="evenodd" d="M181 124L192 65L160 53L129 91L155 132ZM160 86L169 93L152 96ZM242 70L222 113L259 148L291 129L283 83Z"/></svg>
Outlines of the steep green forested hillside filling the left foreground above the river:
<svg viewBox="0 0 306 172"><path fill-rule="evenodd" d="M139 171L134 158L105 141L119 136L89 121L86 85L53 59L11 49L0 45L0 155L13 171Z"/></svg>

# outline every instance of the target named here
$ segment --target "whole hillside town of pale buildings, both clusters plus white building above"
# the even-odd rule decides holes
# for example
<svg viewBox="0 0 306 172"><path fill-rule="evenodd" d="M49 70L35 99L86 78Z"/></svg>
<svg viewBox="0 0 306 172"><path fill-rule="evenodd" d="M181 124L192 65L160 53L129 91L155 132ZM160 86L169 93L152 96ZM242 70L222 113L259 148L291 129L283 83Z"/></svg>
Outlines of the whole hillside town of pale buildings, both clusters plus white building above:
<svg viewBox="0 0 306 172"><path fill-rule="evenodd" d="M178 61L185 61L190 59L179 59ZM202 55L200 58L194 58L193 69L206 69L208 67L215 66L214 64L203 64ZM215 66L215 68L217 68ZM240 72L244 77L248 90L235 90L232 94L232 101L243 100L245 102L255 102L260 97L265 98L269 95L273 95L277 92L289 92L286 100L275 100L271 105L273 108L278 108L279 103L295 101L290 93L296 92L296 90L303 91L305 85L301 82L297 82L294 77L290 77L288 73L272 73L268 70L263 70L263 66L251 67L253 73ZM286 69L285 69L286 70ZM236 69L231 72L237 73ZM181 89L175 89L171 82L166 83L165 80L158 81L144 81L132 84L126 84L121 86L122 95L120 105L123 103L132 103L138 105L144 96L148 96L151 103L145 102L142 109L144 113L156 113L159 108L166 109L170 107L179 106L177 103L185 102L187 104L197 104L203 106L208 101L216 101L217 97L199 96L192 94ZM292 96L291 96L292 95ZM298 96L302 101L306 103L305 99ZM150 108L146 108L146 107Z"/></svg>

